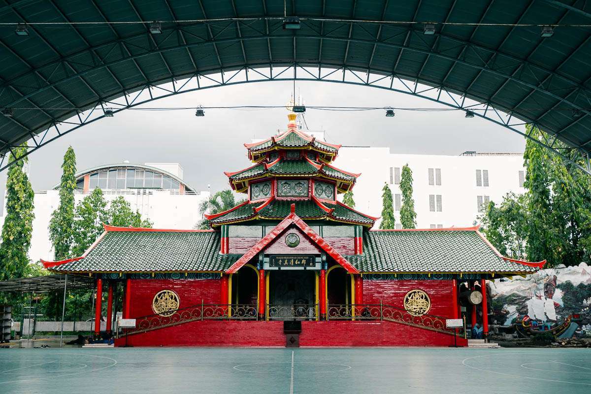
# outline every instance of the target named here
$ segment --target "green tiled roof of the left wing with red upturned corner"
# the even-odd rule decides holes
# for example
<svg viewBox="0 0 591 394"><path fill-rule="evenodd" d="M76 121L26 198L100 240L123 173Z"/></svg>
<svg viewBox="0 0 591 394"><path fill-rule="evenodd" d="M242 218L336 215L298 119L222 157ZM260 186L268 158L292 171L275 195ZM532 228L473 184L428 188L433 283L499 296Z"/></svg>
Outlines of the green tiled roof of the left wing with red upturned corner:
<svg viewBox="0 0 591 394"><path fill-rule="evenodd" d="M110 231L60 272L223 271L237 256L220 255L219 232Z"/></svg>

